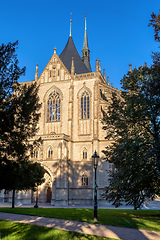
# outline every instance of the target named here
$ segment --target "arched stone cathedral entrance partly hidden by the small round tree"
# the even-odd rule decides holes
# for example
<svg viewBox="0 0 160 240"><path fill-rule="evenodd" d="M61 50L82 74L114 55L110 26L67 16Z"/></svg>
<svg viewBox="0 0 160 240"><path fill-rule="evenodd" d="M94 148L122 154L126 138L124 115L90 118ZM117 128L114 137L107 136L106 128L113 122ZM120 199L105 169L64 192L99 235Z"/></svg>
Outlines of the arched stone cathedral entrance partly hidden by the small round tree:
<svg viewBox="0 0 160 240"><path fill-rule="evenodd" d="M52 181L50 174L45 171L45 181L42 185L38 186L36 192L32 191L31 202L35 203L38 197L38 203L51 203L52 200Z"/></svg>

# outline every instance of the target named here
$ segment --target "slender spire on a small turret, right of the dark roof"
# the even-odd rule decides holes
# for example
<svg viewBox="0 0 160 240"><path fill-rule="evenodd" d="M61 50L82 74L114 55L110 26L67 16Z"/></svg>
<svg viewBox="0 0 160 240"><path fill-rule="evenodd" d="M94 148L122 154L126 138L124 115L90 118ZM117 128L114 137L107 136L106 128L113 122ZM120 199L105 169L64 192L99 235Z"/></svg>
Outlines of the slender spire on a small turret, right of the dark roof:
<svg viewBox="0 0 160 240"><path fill-rule="evenodd" d="M90 66L90 51L88 48L88 38L87 38L87 18L85 14L85 31L84 31L84 41L83 41L83 49L82 49L82 60L88 70L91 72L91 66Z"/></svg>

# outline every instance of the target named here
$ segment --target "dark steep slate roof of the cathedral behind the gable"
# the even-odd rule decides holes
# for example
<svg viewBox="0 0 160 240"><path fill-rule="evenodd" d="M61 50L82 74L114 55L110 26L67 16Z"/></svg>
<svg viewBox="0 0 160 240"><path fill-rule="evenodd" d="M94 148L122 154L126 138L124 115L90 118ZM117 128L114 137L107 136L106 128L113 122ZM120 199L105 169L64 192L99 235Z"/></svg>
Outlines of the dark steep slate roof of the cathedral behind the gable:
<svg viewBox="0 0 160 240"><path fill-rule="evenodd" d="M75 68L76 74L90 72L88 70L88 68L85 66L81 57L79 56L71 36L69 37L68 42L67 42L64 50L59 55L59 57L70 73L71 73L72 57L74 58L74 68Z"/></svg>

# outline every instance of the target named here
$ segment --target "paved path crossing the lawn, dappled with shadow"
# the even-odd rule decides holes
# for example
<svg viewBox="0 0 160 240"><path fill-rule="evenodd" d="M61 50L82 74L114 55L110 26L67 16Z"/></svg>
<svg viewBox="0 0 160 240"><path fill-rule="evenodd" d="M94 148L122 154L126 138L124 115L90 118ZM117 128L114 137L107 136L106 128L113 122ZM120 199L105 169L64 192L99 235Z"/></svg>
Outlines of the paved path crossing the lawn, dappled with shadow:
<svg viewBox="0 0 160 240"><path fill-rule="evenodd" d="M56 218L45 218L21 214L2 213L0 219L15 221L20 223L29 223L38 226L58 228L67 231L74 231L97 236L104 236L123 240L160 240L160 232L146 231L141 229L121 228L100 224L91 224L86 222L77 222Z"/></svg>

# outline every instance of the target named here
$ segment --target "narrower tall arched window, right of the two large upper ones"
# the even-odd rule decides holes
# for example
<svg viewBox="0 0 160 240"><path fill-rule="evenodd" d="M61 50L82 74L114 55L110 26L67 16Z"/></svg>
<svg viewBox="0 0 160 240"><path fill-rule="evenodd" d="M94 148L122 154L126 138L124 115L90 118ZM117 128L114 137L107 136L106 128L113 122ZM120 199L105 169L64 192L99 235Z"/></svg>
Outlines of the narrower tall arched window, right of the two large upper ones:
<svg viewBox="0 0 160 240"><path fill-rule="evenodd" d="M84 91L81 95L81 119L89 119L89 94Z"/></svg>

